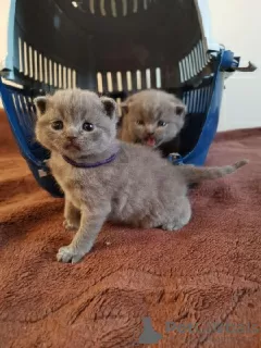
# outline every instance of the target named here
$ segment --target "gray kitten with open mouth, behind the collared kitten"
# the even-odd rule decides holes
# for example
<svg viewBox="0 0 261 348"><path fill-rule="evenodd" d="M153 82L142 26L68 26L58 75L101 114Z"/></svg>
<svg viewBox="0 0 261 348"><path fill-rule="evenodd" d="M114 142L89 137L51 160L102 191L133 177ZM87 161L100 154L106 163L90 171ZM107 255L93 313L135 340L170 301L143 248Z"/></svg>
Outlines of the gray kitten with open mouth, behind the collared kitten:
<svg viewBox="0 0 261 348"><path fill-rule="evenodd" d="M142 90L127 98L122 110L120 139L178 152L178 134L186 115L186 107L178 98L163 90Z"/></svg>

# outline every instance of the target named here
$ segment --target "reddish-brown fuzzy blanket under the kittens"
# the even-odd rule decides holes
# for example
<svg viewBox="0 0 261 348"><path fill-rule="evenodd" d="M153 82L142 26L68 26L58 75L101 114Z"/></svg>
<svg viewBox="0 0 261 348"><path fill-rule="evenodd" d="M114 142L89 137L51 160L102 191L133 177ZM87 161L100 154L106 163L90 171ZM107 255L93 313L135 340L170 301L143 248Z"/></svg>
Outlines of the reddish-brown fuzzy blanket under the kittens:
<svg viewBox="0 0 261 348"><path fill-rule="evenodd" d="M250 164L192 189L182 231L107 224L76 265L3 112L0 134L1 348L260 347L261 129L217 135L208 165Z"/></svg>

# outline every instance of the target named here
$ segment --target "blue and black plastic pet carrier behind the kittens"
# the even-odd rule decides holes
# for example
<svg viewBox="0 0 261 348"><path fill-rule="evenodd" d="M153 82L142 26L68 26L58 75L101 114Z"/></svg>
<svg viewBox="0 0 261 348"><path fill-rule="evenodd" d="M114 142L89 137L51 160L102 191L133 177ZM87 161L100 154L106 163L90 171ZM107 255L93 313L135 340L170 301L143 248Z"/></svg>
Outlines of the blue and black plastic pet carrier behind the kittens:
<svg viewBox="0 0 261 348"><path fill-rule="evenodd" d="M240 61L212 41L206 1L5 0L0 91L21 152L42 188L61 196L46 164L49 152L35 140L33 99L59 88L92 89L119 103L146 88L176 94L188 114L174 162L204 163L224 76L239 70Z"/></svg>

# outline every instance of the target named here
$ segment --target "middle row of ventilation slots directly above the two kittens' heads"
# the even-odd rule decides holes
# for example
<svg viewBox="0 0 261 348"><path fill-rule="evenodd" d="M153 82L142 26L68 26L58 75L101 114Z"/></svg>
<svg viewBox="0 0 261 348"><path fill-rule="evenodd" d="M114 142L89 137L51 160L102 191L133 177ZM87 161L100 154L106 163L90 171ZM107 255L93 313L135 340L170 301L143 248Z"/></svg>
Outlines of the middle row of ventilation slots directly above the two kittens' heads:
<svg viewBox="0 0 261 348"><path fill-rule="evenodd" d="M97 90L99 94L105 91L135 91L149 88L161 88L162 76L161 69L147 69L136 72L117 72L105 74L97 73Z"/></svg>

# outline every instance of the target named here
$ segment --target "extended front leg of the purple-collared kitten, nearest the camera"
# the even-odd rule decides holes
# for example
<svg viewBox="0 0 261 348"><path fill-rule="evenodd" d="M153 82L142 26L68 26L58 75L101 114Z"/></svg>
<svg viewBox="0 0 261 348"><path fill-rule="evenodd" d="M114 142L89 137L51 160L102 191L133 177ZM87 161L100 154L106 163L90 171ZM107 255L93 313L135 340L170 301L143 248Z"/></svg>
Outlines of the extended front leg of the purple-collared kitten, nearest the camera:
<svg viewBox="0 0 261 348"><path fill-rule="evenodd" d="M108 214L109 207L89 212L87 207L80 210L80 226L72 243L59 249L57 259L61 262L78 262L94 246Z"/></svg>

